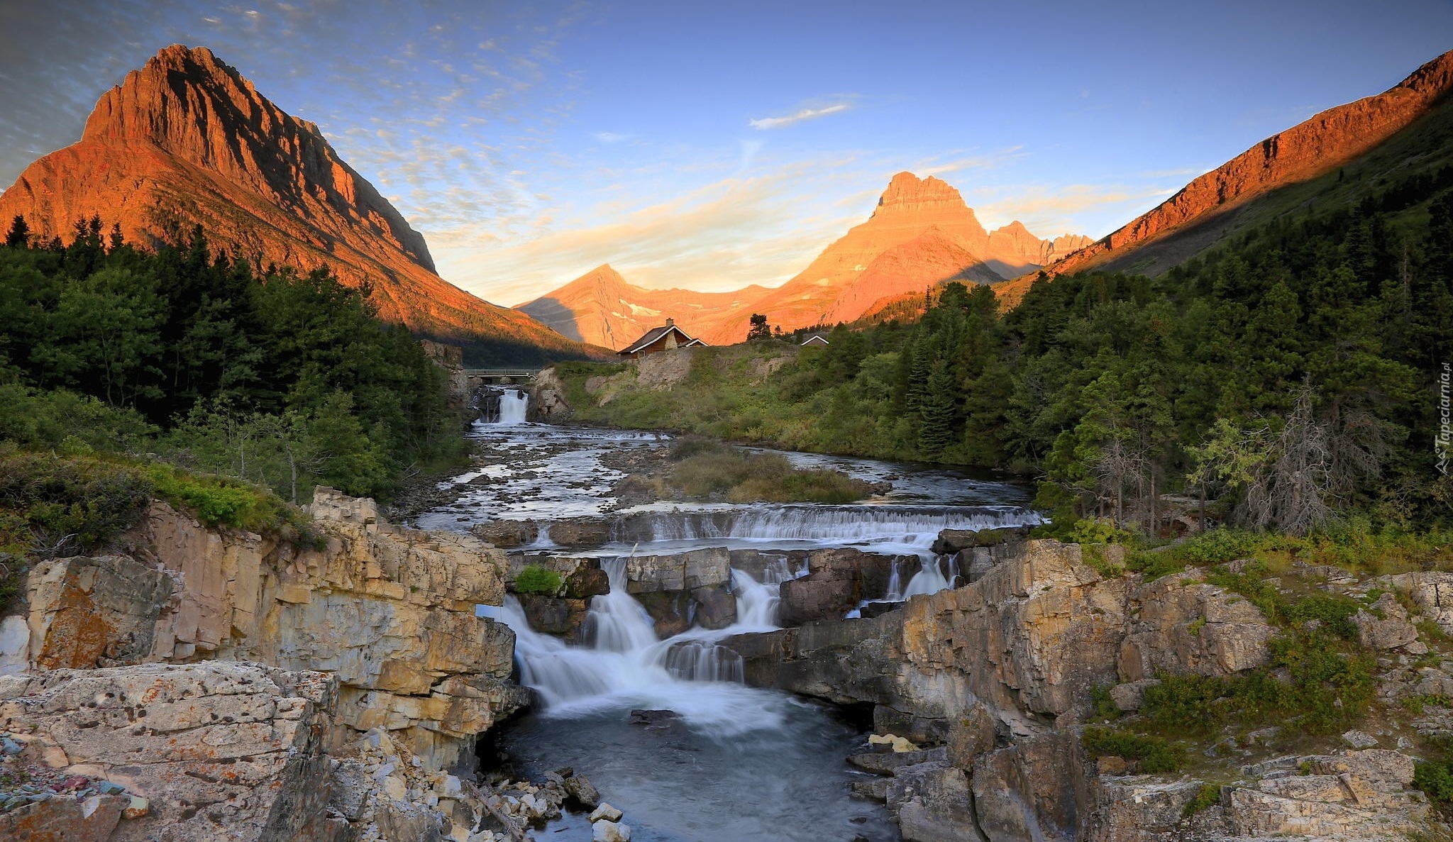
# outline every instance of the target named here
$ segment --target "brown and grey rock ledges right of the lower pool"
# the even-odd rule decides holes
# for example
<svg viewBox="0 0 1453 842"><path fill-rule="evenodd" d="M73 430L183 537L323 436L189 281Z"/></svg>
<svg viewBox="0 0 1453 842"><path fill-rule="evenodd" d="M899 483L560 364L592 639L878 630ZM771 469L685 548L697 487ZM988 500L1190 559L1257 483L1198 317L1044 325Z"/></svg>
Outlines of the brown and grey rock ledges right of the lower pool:
<svg viewBox="0 0 1453 842"><path fill-rule="evenodd" d="M1411 788L1412 758L1364 743L1241 767L1237 784L1187 816L1187 806L1205 798L1202 781L1126 775L1123 764L1096 762L1081 748L1080 723L1097 688L1135 710L1152 675L1234 675L1266 663L1274 627L1261 611L1194 571L1154 582L1107 578L1084 562L1081 547L1058 541L966 546L959 569L969 571L969 585L914 597L878 617L721 642L742 656L748 684L866 703L876 730L937 746L850 758L891 775L856 788L888 801L904 839L1392 841L1427 816ZM1443 608L1453 604L1450 582L1449 573L1405 573L1364 589L1405 591L1434 621L1453 623ZM1427 652L1409 637L1399 600L1383 597L1376 613L1354 618L1366 645ZM1441 669L1424 669L1389 685L1396 691L1389 704L1398 692L1453 690Z"/></svg>

